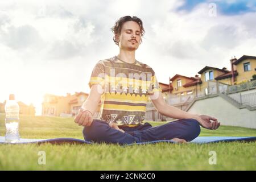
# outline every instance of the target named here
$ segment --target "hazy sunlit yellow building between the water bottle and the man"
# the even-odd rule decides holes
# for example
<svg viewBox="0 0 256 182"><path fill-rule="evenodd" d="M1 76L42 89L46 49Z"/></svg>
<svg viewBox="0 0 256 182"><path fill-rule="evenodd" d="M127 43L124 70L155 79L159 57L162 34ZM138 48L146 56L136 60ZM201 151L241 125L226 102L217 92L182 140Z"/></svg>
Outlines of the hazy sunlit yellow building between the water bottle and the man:
<svg viewBox="0 0 256 182"><path fill-rule="evenodd" d="M76 92L73 95L67 93L67 96L46 94L42 104L42 115L75 116L87 98L88 93L84 92ZM100 110L100 105L101 103L98 104L97 112Z"/></svg>

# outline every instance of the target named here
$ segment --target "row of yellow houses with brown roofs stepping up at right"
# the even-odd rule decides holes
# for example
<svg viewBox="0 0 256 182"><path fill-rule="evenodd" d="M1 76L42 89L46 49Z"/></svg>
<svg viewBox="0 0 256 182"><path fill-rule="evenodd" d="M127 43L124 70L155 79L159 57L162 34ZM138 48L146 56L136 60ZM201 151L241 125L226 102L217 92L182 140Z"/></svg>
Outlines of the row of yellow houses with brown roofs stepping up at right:
<svg viewBox="0 0 256 182"><path fill-rule="evenodd" d="M243 55L238 60L236 58L231 59L230 65L231 71L225 67L220 69L205 66L198 72L200 77L199 75L187 77L176 74L172 78L169 77L169 84L159 82L164 100L169 105L175 106L181 110L187 110L197 98L217 96L218 93L234 94L234 92L251 90L256 87L256 82L252 81L253 75L256 74L255 56ZM254 77L256 77L256 75ZM239 85L241 82L246 82L246 85ZM237 84L238 86L235 86ZM244 95L242 94L241 97L237 98L242 98L240 100L245 102L247 100L255 100L254 97L253 94L245 94L244 92ZM253 106L251 101L250 105ZM242 104L241 107L243 107ZM166 118L158 113L154 105L149 101L147 104L146 119L151 121L164 121L170 118Z"/></svg>

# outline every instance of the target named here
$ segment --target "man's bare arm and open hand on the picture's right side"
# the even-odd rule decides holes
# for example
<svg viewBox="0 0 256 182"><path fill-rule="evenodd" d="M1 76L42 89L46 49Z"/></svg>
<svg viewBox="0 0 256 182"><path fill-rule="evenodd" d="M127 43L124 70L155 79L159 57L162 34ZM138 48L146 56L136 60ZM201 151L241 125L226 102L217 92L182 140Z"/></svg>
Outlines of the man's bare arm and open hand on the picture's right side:
<svg viewBox="0 0 256 182"><path fill-rule="evenodd" d="M174 119L193 118L199 121L201 126L212 130L217 129L220 126L220 123L214 117L210 117L208 115L191 114L177 109L177 107L166 104L161 92L155 92L150 96L150 98L158 112L162 115L166 115L167 117ZM210 120L213 120L213 122L210 122Z"/></svg>

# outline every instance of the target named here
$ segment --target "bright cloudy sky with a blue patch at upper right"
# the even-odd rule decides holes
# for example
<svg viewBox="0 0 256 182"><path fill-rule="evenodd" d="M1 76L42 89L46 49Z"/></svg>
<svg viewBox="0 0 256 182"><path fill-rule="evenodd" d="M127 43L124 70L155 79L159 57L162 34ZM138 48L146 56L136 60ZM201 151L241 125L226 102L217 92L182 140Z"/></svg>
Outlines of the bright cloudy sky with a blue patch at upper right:
<svg viewBox="0 0 256 182"><path fill-rule="evenodd" d="M89 93L94 65L119 53L110 28L125 15L142 19L135 58L159 82L256 56L256 1L0 1L0 102L14 93L40 115L46 93Z"/></svg>

